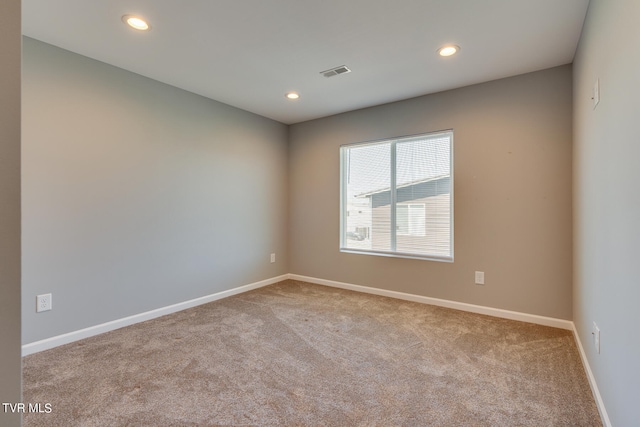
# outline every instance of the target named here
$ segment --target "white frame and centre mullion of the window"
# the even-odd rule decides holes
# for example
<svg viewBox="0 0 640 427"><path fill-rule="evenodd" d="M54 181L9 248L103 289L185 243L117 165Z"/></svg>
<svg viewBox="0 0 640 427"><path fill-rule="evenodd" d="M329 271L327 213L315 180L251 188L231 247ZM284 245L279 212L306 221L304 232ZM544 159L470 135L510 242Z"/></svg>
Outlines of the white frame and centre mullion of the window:
<svg viewBox="0 0 640 427"><path fill-rule="evenodd" d="M387 144L390 143L391 148L391 241L392 247L396 246L396 235L397 230L393 230L396 228L396 209L394 207L397 204L405 205L405 204L421 204L421 203L397 203L396 202L396 149L395 145L397 143L405 142L409 139L414 139L418 137L436 137L437 135L448 134L450 144L449 144L449 178L451 180L451 188L449 193L449 255L423 255L418 253L406 253L399 252L395 250L383 251L378 249L356 249L356 248L348 248L347 247L347 191L346 191L346 179L348 176L348 149L359 146L359 145L374 145L374 144ZM453 200L454 200L454 162L453 162L453 129L442 130L437 132L429 132L423 134L416 135L408 135L397 138L389 138L384 140L377 141L366 141L366 142L358 142L354 144L345 144L340 146L340 252L345 253L354 253L354 254L365 254L365 255L376 255L376 256L386 256L386 257L395 257L395 258L410 258L410 259L421 259L421 260L429 260L429 261L441 261L441 262L453 262L453 254L454 254L454 208L453 208ZM425 230L426 233L429 230Z"/></svg>

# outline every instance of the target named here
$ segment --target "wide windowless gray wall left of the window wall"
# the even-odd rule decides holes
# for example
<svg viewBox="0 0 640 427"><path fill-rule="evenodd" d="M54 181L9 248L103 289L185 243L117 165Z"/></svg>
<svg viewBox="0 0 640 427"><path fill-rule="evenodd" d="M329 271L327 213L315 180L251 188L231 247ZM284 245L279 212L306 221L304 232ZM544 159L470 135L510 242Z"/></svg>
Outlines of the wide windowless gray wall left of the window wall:
<svg viewBox="0 0 640 427"><path fill-rule="evenodd" d="M23 55L23 343L288 272L285 125L33 39Z"/></svg>

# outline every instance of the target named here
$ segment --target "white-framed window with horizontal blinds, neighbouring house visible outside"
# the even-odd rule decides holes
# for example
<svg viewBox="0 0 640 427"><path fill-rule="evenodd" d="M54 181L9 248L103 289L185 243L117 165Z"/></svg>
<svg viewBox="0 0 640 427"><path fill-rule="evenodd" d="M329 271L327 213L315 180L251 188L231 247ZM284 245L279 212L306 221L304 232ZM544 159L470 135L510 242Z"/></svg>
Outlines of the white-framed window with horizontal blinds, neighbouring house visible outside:
<svg viewBox="0 0 640 427"><path fill-rule="evenodd" d="M340 148L340 250L453 261L453 131Z"/></svg>

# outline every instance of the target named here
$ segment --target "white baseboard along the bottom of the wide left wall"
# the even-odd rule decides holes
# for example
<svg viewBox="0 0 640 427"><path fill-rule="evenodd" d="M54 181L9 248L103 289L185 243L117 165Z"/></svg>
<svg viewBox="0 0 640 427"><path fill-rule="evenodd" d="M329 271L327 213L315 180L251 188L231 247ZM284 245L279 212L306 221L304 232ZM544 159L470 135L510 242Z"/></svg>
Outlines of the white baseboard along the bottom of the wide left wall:
<svg viewBox="0 0 640 427"><path fill-rule="evenodd" d="M27 356L29 354L38 353L40 351L48 350L50 348L58 347L63 344L78 341L83 338L89 338L94 335L103 334L105 332L113 331L114 329L123 328L125 326L133 325L135 323L144 322L145 320L155 319L156 317L164 316L167 314L175 313L177 311L185 310L187 308L195 307L197 305L206 304L211 301L216 301L222 298L230 297L231 295L240 294L250 291L252 289L261 288L263 286L271 285L273 283L286 280L287 274L282 276L273 277L271 279L261 280L259 282L250 283L248 285L240 286L237 288L229 289L215 294L206 295L200 298L195 298L189 301L184 301L178 304L169 305L167 307L161 307L155 310L147 311L133 316L124 317L122 319L112 320L111 322L102 323L100 325L90 326L78 331L69 332L66 334L58 335L55 337L47 338L41 341L35 341L22 346L22 355Z"/></svg>

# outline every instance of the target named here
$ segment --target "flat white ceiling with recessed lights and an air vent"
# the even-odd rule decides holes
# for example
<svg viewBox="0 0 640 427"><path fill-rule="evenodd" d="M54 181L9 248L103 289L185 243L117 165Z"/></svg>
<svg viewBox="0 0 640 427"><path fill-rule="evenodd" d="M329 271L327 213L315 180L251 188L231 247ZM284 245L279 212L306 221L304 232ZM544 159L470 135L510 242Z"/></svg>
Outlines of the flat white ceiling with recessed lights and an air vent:
<svg viewBox="0 0 640 427"><path fill-rule="evenodd" d="M29 37L292 124L571 63L588 4L22 0L22 25ZM125 26L125 14L151 31ZM461 51L439 57L448 43ZM352 72L320 74L340 65Z"/></svg>

